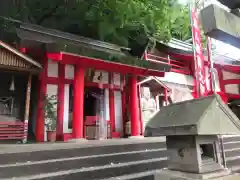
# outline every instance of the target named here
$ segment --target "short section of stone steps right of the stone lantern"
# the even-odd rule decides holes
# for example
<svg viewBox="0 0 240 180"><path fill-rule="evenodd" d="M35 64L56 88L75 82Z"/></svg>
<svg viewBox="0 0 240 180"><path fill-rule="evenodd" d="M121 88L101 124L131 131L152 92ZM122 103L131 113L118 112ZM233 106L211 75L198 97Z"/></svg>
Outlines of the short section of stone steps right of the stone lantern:
<svg viewBox="0 0 240 180"><path fill-rule="evenodd" d="M223 144L227 167L240 173L240 136L224 137Z"/></svg>

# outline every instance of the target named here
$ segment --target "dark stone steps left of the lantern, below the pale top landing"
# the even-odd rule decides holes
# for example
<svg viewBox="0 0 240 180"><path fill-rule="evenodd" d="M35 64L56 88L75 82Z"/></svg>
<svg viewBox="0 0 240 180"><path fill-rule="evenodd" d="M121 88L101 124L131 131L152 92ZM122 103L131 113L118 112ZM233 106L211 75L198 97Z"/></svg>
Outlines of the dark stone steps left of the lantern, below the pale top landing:
<svg viewBox="0 0 240 180"><path fill-rule="evenodd" d="M142 143L105 146L104 143L101 146L71 148L70 144L69 148L60 150L0 154L0 179L93 180L116 179L118 176L149 179L156 170L167 166L163 141L148 142L145 139Z"/></svg>

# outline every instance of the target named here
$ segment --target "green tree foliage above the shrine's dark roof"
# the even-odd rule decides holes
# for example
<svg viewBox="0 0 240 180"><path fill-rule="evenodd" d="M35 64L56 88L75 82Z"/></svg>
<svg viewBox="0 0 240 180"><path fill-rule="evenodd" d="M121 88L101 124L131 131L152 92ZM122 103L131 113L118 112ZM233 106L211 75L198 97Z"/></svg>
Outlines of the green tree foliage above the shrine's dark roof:
<svg viewBox="0 0 240 180"><path fill-rule="evenodd" d="M7 17L123 46L145 45L149 37L184 40L190 32L187 11L174 0L14 2Z"/></svg>

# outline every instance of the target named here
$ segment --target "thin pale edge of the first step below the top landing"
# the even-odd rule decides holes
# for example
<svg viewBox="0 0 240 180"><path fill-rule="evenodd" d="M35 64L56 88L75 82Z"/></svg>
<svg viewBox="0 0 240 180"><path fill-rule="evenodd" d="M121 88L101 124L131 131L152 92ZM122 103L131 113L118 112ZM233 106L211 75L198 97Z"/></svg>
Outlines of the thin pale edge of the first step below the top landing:
<svg viewBox="0 0 240 180"><path fill-rule="evenodd" d="M120 152L120 153L111 153L111 154L75 156L75 157L69 157L69 158L59 158L59 159L49 159L49 160L42 160L42 161L27 161L27 162L20 162L20 163L14 163L14 164L4 164L4 165L0 165L0 168L39 165L39 164L64 162L64 161L72 161L72 160L84 160L84 159L89 159L89 158L99 158L99 157L104 158L104 157L117 156L117 155L151 153L151 152L165 152L165 151L166 151L166 149L150 149L150 150L129 151L129 152Z"/></svg>

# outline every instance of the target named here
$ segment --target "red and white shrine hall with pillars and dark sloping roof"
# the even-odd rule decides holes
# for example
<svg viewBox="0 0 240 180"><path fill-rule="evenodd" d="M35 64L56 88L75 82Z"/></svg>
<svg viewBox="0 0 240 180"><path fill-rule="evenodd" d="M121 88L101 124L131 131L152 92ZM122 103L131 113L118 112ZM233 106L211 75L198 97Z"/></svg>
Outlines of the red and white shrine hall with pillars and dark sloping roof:
<svg viewBox="0 0 240 180"><path fill-rule="evenodd" d="M46 141L43 96L57 97L57 139L142 135L138 82L163 77L170 66L128 55L128 49L57 30L22 24L21 51L42 64L34 130Z"/></svg>

